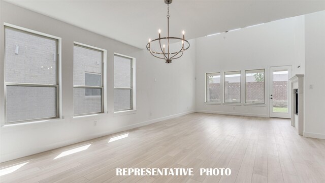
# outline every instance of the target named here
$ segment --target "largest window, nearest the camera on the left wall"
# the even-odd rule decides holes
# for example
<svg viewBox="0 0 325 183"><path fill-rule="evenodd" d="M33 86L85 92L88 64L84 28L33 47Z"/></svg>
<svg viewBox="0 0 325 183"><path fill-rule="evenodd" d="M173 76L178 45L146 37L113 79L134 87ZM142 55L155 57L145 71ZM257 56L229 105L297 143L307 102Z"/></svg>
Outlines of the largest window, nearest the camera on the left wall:
<svg viewBox="0 0 325 183"><path fill-rule="evenodd" d="M59 116L58 40L31 32L5 26L6 123Z"/></svg>

